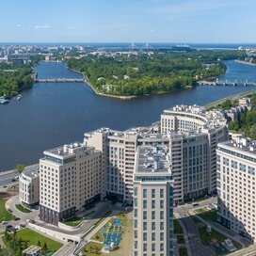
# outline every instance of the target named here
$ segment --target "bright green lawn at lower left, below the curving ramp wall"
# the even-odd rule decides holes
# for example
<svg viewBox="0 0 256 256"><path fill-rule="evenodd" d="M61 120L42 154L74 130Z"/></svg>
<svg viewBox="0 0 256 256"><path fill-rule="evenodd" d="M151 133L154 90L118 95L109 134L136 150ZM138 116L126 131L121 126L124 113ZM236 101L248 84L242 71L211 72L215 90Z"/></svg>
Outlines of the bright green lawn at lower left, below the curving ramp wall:
<svg viewBox="0 0 256 256"><path fill-rule="evenodd" d="M62 244L30 229L24 229L20 232L17 232L17 236L21 237L24 242L27 242L28 247L32 245L37 246L38 241L40 241L41 246L43 246L45 242L48 249L52 249L55 251L62 247Z"/></svg>

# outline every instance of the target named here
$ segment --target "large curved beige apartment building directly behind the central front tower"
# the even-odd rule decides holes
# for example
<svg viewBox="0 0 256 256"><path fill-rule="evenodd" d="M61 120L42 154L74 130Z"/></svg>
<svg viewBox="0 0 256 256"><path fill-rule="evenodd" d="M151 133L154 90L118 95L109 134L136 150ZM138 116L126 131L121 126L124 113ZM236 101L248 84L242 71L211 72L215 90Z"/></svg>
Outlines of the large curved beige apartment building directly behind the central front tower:
<svg viewBox="0 0 256 256"><path fill-rule="evenodd" d="M198 105L177 105L164 111L160 123L124 132L98 129L85 134L84 144L103 152L107 198L128 204L133 203L136 147L167 145L174 201L179 204L216 192L216 143L227 139L224 113L207 112Z"/></svg>

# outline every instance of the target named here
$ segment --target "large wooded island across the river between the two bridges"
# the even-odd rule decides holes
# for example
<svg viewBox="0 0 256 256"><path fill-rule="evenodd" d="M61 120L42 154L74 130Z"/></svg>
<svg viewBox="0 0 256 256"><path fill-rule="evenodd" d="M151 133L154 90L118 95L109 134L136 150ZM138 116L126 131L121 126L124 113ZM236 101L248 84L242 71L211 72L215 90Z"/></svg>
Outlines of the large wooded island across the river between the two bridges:
<svg viewBox="0 0 256 256"><path fill-rule="evenodd" d="M97 91L111 95L145 95L196 87L197 81L226 71L221 60L242 58L241 51L200 51L137 56L84 56L67 60L83 72Z"/></svg>

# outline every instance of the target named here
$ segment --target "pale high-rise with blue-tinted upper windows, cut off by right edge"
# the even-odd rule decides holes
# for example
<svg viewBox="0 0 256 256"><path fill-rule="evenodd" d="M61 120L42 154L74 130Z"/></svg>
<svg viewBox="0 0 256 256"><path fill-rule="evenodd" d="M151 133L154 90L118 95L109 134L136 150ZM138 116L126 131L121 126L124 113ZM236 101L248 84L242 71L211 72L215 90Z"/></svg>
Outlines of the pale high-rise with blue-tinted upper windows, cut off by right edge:
<svg viewBox="0 0 256 256"><path fill-rule="evenodd" d="M218 222L256 241L256 141L237 136L219 143L217 155Z"/></svg>

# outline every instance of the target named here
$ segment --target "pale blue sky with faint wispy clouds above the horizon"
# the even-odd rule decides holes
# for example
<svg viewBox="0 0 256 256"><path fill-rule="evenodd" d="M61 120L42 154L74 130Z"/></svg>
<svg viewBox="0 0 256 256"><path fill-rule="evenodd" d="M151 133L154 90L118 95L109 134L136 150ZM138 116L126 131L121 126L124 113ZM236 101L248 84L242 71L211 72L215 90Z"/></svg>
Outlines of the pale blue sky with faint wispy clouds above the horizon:
<svg viewBox="0 0 256 256"><path fill-rule="evenodd" d="M256 42L256 0L8 0L0 7L0 42Z"/></svg>

